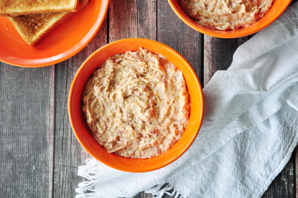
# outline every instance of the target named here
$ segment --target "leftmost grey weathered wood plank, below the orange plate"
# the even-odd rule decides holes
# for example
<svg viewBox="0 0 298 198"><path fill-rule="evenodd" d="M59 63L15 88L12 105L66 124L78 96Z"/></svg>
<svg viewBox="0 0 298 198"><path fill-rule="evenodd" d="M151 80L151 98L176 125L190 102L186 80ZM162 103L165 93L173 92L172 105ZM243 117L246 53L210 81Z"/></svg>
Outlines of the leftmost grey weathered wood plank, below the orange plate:
<svg viewBox="0 0 298 198"><path fill-rule="evenodd" d="M1 197L52 197L54 66L0 68Z"/></svg>

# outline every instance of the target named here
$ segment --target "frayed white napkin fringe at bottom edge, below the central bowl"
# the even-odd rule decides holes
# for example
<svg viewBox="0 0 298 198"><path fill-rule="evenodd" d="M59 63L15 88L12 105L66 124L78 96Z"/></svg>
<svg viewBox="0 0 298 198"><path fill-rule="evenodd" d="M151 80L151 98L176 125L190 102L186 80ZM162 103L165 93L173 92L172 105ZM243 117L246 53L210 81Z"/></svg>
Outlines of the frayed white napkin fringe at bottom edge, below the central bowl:
<svg viewBox="0 0 298 198"><path fill-rule="evenodd" d="M173 192L168 192L172 189L173 189ZM173 196L176 193L175 198L178 198L179 195L181 195L181 193L179 193L173 187L173 185L171 185L167 182L164 182L163 184L156 185L153 188L149 188L148 190L145 190L145 193L151 193L151 194L155 195L156 197L154 197L154 198L162 198L162 196L164 194L168 194L170 196ZM184 198L184 197L181 195L180 198Z"/></svg>

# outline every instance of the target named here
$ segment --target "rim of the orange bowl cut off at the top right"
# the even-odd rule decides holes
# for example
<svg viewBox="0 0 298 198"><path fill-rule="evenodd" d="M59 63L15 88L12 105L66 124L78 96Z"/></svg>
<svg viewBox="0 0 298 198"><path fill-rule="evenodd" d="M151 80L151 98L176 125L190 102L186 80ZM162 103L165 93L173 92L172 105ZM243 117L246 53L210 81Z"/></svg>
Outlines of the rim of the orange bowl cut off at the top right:
<svg viewBox="0 0 298 198"><path fill-rule="evenodd" d="M175 14L185 23L187 24L189 27L193 28L194 30L200 32L200 33L203 33L203 34L206 34L206 35L209 35L209 36L213 36L213 37L217 37L217 38L239 38L239 37L243 37L243 36L248 36L248 35L251 35L251 34L254 34L254 33L257 33L258 31L260 30L263 30L265 27L269 26L271 23L273 23L277 18L279 18L283 13L284 11L288 8L288 6L291 4L291 1L292 0L280 0L280 1L285 1L285 4L283 4L283 6L280 7L280 12L278 12L276 15L274 15L272 18L270 18L270 20L267 20L265 21L264 23L260 24L259 26L257 26L256 28L254 29L248 29L247 31L245 32L238 32L237 30L227 30L227 31L221 31L221 30L214 30L214 29L211 29L211 28L208 28L208 27L204 27L200 24L196 24L196 25L193 25L191 23L189 23L187 21L187 18L184 18L179 10L176 9L176 6L175 6L175 3L178 4L178 1L177 0L167 0L172 8L172 10L175 12ZM278 1L278 0L274 0L273 3L272 3L272 6L273 4ZM182 10L182 9L181 9ZM183 11L183 10L182 10ZM184 11L183 11L184 12ZM265 14L266 15L266 14ZM264 15L264 16L265 16ZM193 19L191 19L189 16L188 17L188 20L192 20L194 21ZM253 24L251 24L253 25ZM250 25L250 26L251 26ZM249 27L249 26L248 26ZM244 27L245 28L245 27ZM209 30L208 30L209 29ZM238 30L241 30L242 28L238 29Z"/></svg>

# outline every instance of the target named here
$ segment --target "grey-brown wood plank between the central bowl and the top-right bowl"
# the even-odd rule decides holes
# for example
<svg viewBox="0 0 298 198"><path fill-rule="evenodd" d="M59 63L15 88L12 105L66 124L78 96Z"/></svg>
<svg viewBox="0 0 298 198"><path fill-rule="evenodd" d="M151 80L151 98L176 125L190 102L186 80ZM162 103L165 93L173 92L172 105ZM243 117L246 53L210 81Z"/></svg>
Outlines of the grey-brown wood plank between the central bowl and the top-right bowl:
<svg viewBox="0 0 298 198"><path fill-rule="evenodd" d="M167 0L158 0L157 9L157 41L172 47L184 56L202 82L203 34L181 21Z"/></svg>

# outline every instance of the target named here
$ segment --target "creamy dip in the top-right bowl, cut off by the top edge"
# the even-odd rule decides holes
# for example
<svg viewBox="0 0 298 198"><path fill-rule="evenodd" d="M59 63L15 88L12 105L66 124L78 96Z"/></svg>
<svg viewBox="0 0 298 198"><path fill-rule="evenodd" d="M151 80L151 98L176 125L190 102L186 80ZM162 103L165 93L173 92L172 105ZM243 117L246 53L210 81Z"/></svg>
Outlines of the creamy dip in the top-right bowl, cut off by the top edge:
<svg viewBox="0 0 298 198"><path fill-rule="evenodd" d="M199 24L217 30L237 30L263 17L274 0L178 0Z"/></svg>

